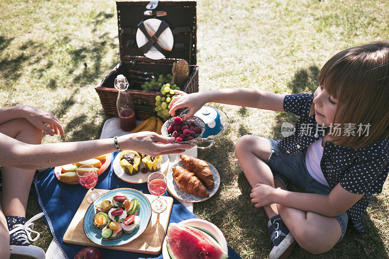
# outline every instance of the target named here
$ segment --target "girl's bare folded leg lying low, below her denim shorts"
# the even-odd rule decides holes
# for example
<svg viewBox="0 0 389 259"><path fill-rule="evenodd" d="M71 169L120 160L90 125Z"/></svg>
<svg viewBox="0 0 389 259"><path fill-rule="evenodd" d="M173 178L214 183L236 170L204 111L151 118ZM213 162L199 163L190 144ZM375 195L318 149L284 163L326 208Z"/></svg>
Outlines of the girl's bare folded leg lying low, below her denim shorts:
<svg viewBox="0 0 389 259"><path fill-rule="evenodd" d="M277 205L283 222L297 243L313 254L321 254L334 247L341 237L340 224L335 217Z"/></svg>

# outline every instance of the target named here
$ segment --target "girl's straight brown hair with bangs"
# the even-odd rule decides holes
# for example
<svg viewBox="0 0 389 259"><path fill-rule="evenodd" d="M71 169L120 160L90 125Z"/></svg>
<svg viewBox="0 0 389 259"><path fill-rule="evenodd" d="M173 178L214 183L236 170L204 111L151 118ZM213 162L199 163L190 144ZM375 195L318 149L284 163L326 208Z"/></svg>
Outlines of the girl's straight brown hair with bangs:
<svg viewBox="0 0 389 259"><path fill-rule="evenodd" d="M355 136L334 136L336 145L362 148L389 136L389 41L376 41L337 53L320 70L319 86L338 100L333 125L339 108L338 123L343 129L355 123ZM315 114L312 103L309 116ZM366 136L357 133L358 125L369 126ZM349 124L350 125L350 124Z"/></svg>

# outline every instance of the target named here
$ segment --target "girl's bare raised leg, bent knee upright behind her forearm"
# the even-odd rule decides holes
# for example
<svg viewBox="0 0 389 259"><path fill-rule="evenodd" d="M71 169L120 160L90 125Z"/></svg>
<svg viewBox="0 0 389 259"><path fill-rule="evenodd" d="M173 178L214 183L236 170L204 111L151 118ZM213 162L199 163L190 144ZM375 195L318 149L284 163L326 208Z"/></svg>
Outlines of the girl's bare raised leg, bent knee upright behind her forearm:
<svg viewBox="0 0 389 259"><path fill-rule="evenodd" d="M267 138L245 135L238 139L235 154L251 187L257 183L274 187L273 173L264 162L271 154L270 142ZM276 204L264 206L264 209L269 219L279 214Z"/></svg>

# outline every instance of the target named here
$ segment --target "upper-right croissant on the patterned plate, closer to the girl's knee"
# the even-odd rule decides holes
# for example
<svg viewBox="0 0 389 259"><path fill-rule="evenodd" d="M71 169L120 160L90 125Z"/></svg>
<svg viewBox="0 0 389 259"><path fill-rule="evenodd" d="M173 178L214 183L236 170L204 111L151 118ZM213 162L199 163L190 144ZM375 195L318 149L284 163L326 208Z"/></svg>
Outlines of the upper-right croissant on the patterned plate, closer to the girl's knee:
<svg viewBox="0 0 389 259"><path fill-rule="evenodd" d="M181 158L181 161L186 166L186 168L190 172L195 173L195 175L203 182L207 189L213 189L215 182L207 162L190 155L180 155L179 157Z"/></svg>

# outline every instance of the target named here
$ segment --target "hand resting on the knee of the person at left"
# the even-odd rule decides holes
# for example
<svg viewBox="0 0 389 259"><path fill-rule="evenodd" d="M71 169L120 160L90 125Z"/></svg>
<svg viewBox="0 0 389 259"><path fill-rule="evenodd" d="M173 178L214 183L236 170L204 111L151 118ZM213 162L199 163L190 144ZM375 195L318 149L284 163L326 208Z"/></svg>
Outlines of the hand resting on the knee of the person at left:
<svg viewBox="0 0 389 259"><path fill-rule="evenodd" d="M27 119L36 128L43 130L50 136L60 134L65 136L61 122L53 116L53 114L39 110L32 106L24 106L24 118ZM50 128L45 124L49 124Z"/></svg>

